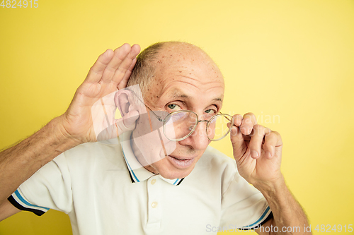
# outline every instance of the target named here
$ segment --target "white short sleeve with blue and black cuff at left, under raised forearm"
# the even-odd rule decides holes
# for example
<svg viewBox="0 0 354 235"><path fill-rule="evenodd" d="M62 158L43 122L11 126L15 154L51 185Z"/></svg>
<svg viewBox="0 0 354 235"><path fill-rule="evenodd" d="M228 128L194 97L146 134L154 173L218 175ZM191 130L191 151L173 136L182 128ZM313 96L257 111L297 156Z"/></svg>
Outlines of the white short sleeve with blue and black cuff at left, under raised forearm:
<svg viewBox="0 0 354 235"><path fill-rule="evenodd" d="M69 214L73 210L72 184L64 153L35 172L8 200L35 215L50 209Z"/></svg>

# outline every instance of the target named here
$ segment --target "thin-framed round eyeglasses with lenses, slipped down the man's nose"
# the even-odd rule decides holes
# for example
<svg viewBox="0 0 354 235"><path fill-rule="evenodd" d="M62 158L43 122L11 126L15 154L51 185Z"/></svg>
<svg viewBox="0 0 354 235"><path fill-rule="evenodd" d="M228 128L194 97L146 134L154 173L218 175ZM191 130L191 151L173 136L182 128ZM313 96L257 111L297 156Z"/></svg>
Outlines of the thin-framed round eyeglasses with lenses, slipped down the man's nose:
<svg viewBox="0 0 354 235"><path fill-rule="evenodd" d="M234 126L234 118L229 114L205 114L205 120L199 120L198 114L190 110L179 110L169 113L165 118L157 115L147 104L145 104L136 94L132 92L146 107L156 119L163 123L164 135L171 141L181 141L193 134L200 122L207 122L205 132L207 138L211 141L217 141L224 138ZM231 125L227 125L230 123Z"/></svg>

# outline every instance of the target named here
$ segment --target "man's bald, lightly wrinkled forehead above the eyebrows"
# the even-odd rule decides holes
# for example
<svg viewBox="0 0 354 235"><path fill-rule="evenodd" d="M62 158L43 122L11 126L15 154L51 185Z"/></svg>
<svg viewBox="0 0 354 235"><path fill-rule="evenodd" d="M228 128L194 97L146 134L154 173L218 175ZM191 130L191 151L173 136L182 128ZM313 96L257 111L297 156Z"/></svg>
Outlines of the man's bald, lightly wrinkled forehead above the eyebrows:
<svg viewBox="0 0 354 235"><path fill-rule="evenodd" d="M155 91L173 97L192 97L199 93L222 99L224 79L219 68L205 52L191 44L163 47L155 68ZM217 97L217 98L216 98Z"/></svg>

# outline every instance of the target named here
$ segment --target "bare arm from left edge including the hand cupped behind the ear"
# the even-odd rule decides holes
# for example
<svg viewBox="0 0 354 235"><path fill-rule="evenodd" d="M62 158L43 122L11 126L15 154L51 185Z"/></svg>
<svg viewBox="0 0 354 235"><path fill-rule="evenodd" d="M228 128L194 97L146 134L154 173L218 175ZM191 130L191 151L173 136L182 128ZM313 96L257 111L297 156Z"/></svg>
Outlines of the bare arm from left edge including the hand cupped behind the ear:
<svg viewBox="0 0 354 235"><path fill-rule="evenodd" d="M101 54L62 116L21 143L0 152L1 215L16 212L14 209L13 212L4 211L12 210L8 209L11 207L6 199L40 167L76 145L97 140L91 107L105 95L125 88L139 51L137 44L132 47L123 44L114 52L108 49ZM127 126L128 123L123 124Z"/></svg>

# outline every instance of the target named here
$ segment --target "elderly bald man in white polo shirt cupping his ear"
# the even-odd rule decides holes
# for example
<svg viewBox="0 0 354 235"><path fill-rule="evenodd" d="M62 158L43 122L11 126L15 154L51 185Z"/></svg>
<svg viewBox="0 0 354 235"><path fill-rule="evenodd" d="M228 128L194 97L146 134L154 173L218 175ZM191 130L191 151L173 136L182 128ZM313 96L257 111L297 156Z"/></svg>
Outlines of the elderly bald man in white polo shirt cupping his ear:
<svg viewBox="0 0 354 235"><path fill-rule="evenodd" d="M224 96L219 68L188 43L139 50L123 44L101 54L67 112L1 152L0 219L53 208L69 215L74 234L216 234L220 229L304 234L306 215L280 172L279 133L258 125L250 113L226 116L236 161L208 147L215 136L207 126ZM123 89L136 84L144 110L135 92ZM114 126L120 141L96 142L93 105L117 90L114 102L122 119ZM149 121L154 118L150 110L188 112L195 123L170 142L162 141L171 140L166 131L157 141L144 138L139 126L149 125L144 111ZM158 142L164 151L151 144Z"/></svg>

